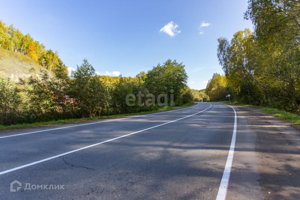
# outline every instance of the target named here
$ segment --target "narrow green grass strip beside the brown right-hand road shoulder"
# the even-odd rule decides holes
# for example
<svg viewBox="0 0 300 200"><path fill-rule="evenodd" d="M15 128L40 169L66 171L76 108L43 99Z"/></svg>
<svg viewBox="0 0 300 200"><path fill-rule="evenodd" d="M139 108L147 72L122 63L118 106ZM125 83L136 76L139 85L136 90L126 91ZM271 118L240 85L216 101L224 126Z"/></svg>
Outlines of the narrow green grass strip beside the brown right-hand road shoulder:
<svg viewBox="0 0 300 200"><path fill-rule="evenodd" d="M278 110L276 108L270 108L270 107L253 106L253 105L247 105L247 104L238 103L238 102L233 102L233 103L227 102L227 103L234 104L234 105L248 106L248 107L252 107L252 108L258 108L258 109L262 110L264 113L270 114L270 115L277 117L280 120L288 122L290 124L297 125L298 128L300 128L300 115L288 113L286 111Z"/></svg>

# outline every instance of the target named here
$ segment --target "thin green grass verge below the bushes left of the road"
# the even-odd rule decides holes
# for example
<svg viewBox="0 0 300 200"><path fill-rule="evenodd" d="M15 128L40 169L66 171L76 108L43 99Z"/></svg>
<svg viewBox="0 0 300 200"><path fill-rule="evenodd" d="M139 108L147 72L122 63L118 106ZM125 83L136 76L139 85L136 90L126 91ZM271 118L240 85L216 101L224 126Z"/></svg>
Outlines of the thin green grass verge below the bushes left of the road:
<svg viewBox="0 0 300 200"><path fill-rule="evenodd" d="M189 106L190 102L186 103L185 105ZM185 105L183 105L183 106L185 106ZM126 114L106 115L106 116L95 117L95 118L61 119L61 120L49 121L49 122L13 124L13 125L9 125L9 126L0 125L0 131L2 131L2 130L20 129L20 128L33 128L33 127L40 127L40 126L50 126L50 125L58 125L58 124L65 124L65 123L85 122L85 121L90 121L90 120L99 120L99 119L126 117L126 116L138 115L138 114L147 114L147 113L162 112L162 111L172 110L172 109L174 109L174 107L168 106L168 107L159 108L157 111L146 111L146 112L139 112L139 113L126 113Z"/></svg>

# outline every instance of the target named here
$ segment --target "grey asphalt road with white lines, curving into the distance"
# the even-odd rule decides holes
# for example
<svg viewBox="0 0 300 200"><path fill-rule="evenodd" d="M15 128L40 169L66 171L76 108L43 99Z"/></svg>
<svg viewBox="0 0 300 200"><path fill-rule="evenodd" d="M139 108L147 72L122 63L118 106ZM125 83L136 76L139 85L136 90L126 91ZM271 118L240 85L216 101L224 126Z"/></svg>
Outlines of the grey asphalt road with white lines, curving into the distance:
<svg viewBox="0 0 300 200"><path fill-rule="evenodd" d="M4 132L0 199L262 199L245 120L237 118L236 142L235 111L219 103ZM14 180L22 185L11 192Z"/></svg>

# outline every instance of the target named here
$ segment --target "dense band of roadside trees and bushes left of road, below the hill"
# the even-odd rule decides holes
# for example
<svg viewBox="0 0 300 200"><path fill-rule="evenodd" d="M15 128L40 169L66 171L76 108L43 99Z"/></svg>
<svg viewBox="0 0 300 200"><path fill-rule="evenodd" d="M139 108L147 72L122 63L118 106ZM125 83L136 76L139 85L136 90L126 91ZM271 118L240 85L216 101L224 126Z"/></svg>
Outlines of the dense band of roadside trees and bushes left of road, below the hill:
<svg viewBox="0 0 300 200"><path fill-rule="evenodd" d="M136 77L98 76L93 66L83 63L72 71L71 77L62 62L57 63L50 77L46 70L39 76L19 79L0 79L0 123L45 122L59 119L99 117L120 113L155 111L162 108L153 102L146 106L147 98L136 98L133 106L125 102L128 94L168 94L173 89L174 105L180 106L193 100L187 87L187 74L183 63L168 59L158 63L148 73L140 72ZM140 101L140 102L138 102ZM132 102L131 102L132 103ZM167 104L167 105L168 105ZM141 106L142 105L142 106Z"/></svg>

